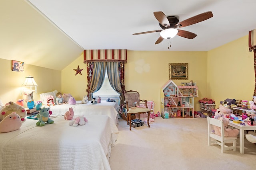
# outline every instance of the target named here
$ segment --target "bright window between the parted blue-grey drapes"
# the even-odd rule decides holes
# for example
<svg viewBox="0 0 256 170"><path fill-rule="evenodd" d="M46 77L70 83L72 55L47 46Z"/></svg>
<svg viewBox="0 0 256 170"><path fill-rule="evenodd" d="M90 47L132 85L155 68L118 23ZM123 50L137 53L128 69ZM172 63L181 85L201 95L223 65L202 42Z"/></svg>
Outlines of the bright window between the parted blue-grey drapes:
<svg viewBox="0 0 256 170"><path fill-rule="evenodd" d="M106 70L105 78L103 84L97 92L93 93L94 98L100 96L100 98L118 98L119 94L111 87L110 82L108 80L108 74ZM104 100L104 99L102 99Z"/></svg>

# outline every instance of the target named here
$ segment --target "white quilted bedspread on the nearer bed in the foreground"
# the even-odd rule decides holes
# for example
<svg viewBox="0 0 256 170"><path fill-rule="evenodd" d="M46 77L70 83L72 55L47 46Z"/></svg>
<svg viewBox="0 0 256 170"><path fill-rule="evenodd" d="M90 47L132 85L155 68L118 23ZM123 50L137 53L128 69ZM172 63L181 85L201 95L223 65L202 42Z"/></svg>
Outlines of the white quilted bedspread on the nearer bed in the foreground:
<svg viewBox="0 0 256 170"><path fill-rule="evenodd" d="M107 115L84 116L88 123L78 127L58 115L53 124L26 119L20 129L0 133L0 170L110 170L107 155L118 129Z"/></svg>

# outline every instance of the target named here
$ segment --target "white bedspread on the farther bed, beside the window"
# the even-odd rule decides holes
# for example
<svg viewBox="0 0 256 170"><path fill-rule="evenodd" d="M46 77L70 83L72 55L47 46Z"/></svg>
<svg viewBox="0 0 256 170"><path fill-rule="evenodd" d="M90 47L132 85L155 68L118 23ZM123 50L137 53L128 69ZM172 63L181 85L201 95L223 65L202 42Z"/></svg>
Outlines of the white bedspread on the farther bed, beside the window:
<svg viewBox="0 0 256 170"><path fill-rule="evenodd" d="M48 107L48 106L43 106ZM64 115L68 108L74 109L74 115L108 115L114 123L118 115L119 105L116 102L101 101L101 103L92 104L91 101L87 104L81 104L81 101L76 101L76 104L61 104L50 106L52 115Z"/></svg>

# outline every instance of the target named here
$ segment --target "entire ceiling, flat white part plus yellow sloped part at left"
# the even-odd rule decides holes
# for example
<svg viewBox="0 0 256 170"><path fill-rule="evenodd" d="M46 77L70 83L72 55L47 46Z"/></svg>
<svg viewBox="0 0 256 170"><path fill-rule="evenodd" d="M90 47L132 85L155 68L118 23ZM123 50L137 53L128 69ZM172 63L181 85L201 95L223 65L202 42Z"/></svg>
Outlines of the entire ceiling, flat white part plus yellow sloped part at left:
<svg viewBox="0 0 256 170"><path fill-rule="evenodd" d="M0 58L62 70L84 49L209 51L255 29L255 6L255 0L1 0ZM214 16L180 28L194 39L176 35L155 45L159 32L132 35L162 29L157 11L180 21L207 11Z"/></svg>

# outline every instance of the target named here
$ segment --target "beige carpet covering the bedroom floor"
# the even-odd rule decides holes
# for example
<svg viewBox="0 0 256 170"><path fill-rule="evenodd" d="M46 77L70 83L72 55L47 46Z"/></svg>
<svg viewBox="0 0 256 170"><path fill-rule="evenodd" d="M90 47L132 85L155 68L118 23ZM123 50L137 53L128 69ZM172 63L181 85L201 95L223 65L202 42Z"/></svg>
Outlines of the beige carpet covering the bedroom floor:
<svg viewBox="0 0 256 170"><path fill-rule="evenodd" d="M245 154L218 145L208 146L207 119L162 119L156 117L141 127L119 119L118 140L112 147L112 170L254 170L256 145L245 139Z"/></svg>

